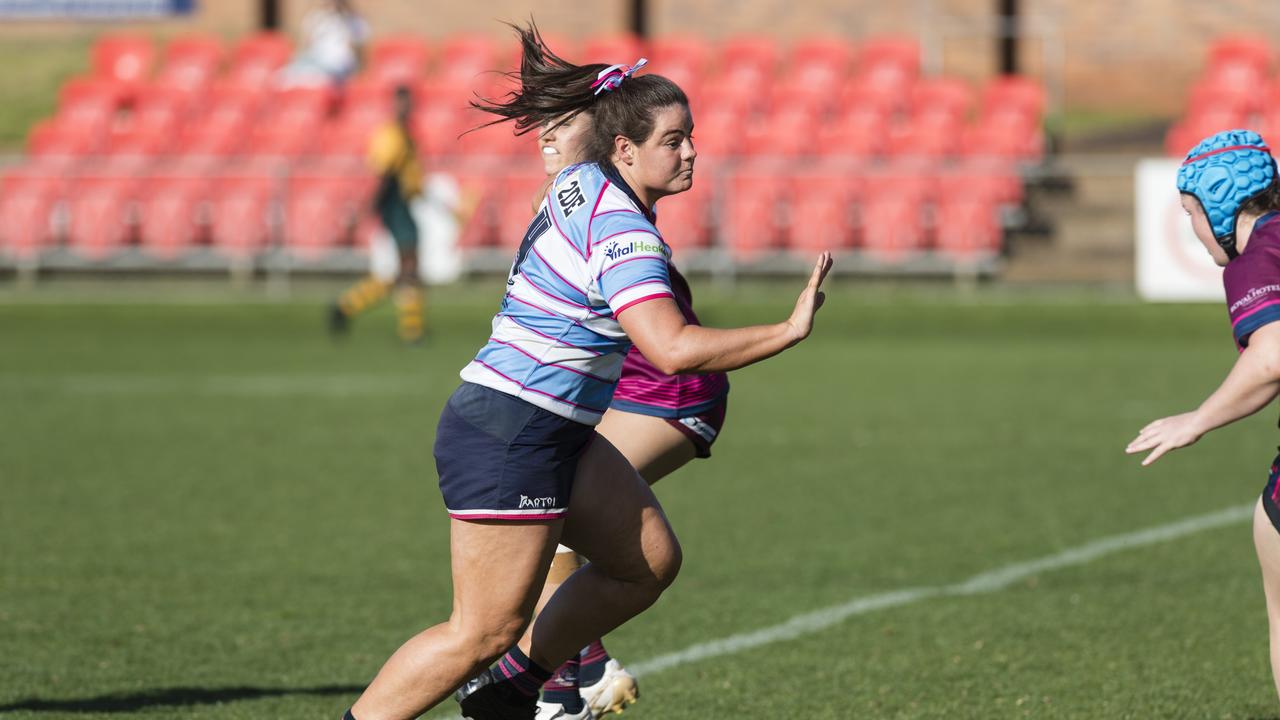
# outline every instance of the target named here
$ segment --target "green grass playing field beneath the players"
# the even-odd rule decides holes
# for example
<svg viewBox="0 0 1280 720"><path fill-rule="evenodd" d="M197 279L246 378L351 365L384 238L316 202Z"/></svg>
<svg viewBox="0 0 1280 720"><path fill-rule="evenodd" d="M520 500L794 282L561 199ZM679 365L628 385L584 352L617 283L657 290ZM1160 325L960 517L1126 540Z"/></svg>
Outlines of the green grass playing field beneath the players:
<svg viewBox="0 0 1280 720"><path fill-rule="evenodd" d="M385 309L330 343L319 301L0 305L0 716L338 717L448 612L433 428L493 292L436 292L417 348ZM700 305L764 322L790 295ZM1270 410L1121 452L1233 357L1220 306L837 287L808 343L733 375L716 457L658 486L684 573L609 650L1247 505ZM1275 719L1266 638L1242 520L653 673L626 717Z"/></svg>

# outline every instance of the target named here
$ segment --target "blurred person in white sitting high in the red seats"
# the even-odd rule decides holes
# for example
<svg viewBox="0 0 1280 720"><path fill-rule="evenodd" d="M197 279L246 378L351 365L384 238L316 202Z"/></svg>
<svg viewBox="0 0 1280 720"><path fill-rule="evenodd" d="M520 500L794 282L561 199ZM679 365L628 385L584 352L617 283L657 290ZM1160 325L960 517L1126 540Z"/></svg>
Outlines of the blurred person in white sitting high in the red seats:
<svg viewBox="0 0 1280 720"><path fill-rule="evenodd" d="M302 17L298 54L280 70L280 83L339 85L361 63L369 23L349 0L321 0Z"/></svg>

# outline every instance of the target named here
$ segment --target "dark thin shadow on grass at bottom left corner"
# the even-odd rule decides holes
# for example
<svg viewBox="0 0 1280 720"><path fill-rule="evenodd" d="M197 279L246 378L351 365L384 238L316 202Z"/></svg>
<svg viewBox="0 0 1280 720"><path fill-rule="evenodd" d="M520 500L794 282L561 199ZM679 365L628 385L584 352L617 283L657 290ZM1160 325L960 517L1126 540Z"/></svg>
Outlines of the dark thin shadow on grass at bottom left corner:
<svg viewBox="0 0 1280 720"><path fill-rule="evenodd" d="M137 693L116 693L81 700L41 700L29 698L0 705L4 712L134 712L152 707L183 707L195 705L218 705L242 700L285 696L340 696L357 694L364 685L319 685L314 688L255 688L248 685L230 688L163 688Z"/></svg>

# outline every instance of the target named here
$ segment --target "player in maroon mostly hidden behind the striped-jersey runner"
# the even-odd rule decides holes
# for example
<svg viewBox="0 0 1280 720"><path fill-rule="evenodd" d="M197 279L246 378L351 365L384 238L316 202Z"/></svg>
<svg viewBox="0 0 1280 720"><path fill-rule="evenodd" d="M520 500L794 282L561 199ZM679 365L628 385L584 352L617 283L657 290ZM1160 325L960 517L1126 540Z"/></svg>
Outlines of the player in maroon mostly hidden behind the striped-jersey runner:
<svg viewBox="0 0 1280 720"><path fill-rule="evenodd" d="M589 137L590 127L590 109L544 123L538 146L548 183L580 160L582 140ZM535 211L544 193L545 187L534 199ZM675 264L668 264L667 272L685 320L691 325L699 324L689 282ZM612 442L652 486L695 457L710 457L712 445L724 424L727 396L728 378L724 373L668 375L632 346L622 364L613 402L595 430ZM541 612L559 584L581 565L581 557L572 550L564 546L556 548L547 587L535 612ZM637 696L635 678L609 657L602 641L594 641L580 657L557 669L543 685L538 717L581 720L622 712Z"/></svg>

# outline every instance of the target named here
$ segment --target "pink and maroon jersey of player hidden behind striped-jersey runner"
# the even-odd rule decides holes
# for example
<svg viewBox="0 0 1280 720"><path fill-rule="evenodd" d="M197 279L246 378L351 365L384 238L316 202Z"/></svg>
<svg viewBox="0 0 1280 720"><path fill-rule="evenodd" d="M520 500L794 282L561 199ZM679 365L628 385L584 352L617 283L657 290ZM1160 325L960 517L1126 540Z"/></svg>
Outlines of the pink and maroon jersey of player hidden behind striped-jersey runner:
<svg viewBox="0 0 1280 720"><path fill-rule="evenodd" d="M685 322L699 325L694 314L694 295L689 281L668 265L671 290ZM689 418L716 407L728 395L728 377L724 373L705 375L667 375L631 346L622 361L622 377L609 405L625 413L654 415L658 418Z"/></svg>

